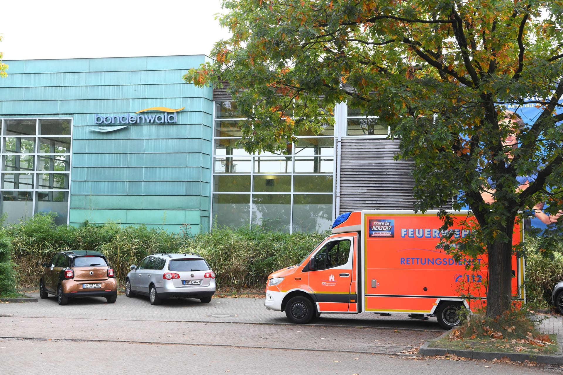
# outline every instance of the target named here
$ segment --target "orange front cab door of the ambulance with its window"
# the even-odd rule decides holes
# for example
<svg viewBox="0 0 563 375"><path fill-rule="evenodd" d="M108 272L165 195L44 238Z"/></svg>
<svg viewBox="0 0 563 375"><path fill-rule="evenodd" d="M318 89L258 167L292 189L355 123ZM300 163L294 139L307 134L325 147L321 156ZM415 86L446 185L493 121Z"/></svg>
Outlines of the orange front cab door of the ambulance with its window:
<svg viewBox="0 0 563 375"><path fill-rule="evenodd" d="M313 255L314 261L306 266L309 288L319 304L319 313L346 313L350 301L357 301L355 288L351 290L357 240L357 235L333 238Z"/></svg>

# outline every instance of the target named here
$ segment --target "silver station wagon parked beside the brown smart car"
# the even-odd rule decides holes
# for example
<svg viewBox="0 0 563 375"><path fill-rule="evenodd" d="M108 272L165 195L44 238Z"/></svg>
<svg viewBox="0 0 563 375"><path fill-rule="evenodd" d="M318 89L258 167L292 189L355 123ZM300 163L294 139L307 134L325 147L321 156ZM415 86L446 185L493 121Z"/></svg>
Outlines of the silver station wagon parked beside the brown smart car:
<svg viewBox="0 0 563 375"><path fill-rule="evenodd" d="M193 254L153 254L132 265L125 279L125 295L149 296L151 305L171 297L196 298L207 304L215 294L215 272L203 257Z"/></svg>

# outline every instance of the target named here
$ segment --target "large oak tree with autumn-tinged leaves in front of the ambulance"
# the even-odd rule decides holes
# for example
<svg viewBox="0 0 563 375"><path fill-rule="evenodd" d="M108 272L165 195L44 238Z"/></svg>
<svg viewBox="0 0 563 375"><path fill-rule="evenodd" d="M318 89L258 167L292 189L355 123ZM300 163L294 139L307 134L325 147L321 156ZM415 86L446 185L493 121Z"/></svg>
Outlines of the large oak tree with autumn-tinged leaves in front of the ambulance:
<svg viewBox="0 0 563 375"><path fill-rule="evenodd" d="M379 116L400 141L398 157L414 161L415 209L455 197L455 209L473 211L489 259L487 314L509 309L515 220L545 202L548 212L563 208L563 2L223 6L232 37L184 79L226 83L248 118L244 147L291 151L295 134L319 132L338 102ZM522 123L513 112L526 106L539 115Z"/></svg>

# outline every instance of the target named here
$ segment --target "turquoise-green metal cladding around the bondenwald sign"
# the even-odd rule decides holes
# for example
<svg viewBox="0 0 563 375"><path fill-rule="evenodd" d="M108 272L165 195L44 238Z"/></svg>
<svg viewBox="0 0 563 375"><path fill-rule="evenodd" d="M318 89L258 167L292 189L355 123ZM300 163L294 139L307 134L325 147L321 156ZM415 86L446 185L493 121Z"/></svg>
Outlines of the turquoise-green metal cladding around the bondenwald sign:
<svg viewBox="0 0 563 375"><path fill-rule="evenodd" d="M207 56L5 61L0 116L72 117L69 222L209 228L212 88L182 82ZM95 129L95 115L184 110L175 124ZM103 125L103 124L102 124Z"/></svg>

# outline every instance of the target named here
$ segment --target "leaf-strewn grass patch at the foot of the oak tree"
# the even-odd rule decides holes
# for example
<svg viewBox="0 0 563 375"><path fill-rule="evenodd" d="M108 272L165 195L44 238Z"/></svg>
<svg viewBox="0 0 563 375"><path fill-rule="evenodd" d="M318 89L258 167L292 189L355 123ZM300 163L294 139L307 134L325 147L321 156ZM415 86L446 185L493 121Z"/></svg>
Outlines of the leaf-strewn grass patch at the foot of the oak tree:
<svg viewBox="0 0 563 375"><path fill-rule="evenodd" d="M455 332L455 331L454 331ZM557 335L545 335L548 341L540 341L534 338L512 338L501 340L497 338L459 338L449 337L433 341L428 347L440 347L450 350L488 351L499 353L525 353L533 355L553 355L560 353L557 343Z"/></svg>

